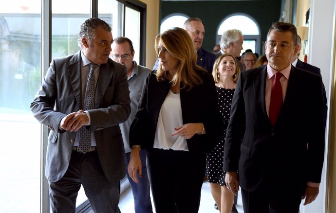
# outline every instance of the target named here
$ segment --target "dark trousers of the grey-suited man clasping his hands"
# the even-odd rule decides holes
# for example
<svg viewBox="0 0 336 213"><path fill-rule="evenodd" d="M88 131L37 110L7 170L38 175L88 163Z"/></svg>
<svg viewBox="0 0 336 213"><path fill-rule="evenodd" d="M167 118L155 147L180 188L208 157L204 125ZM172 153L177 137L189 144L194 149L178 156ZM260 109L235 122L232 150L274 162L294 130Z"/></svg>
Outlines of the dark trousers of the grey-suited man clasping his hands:
<svg viewBox="0 0 336 213"><path fill-rule="evenodd" d="M95 213L120 213L119 181L112 183L105 177L97 151L73 151L64 176L57 182L49 181L52 212L74 213L81 185Z"/></svg>

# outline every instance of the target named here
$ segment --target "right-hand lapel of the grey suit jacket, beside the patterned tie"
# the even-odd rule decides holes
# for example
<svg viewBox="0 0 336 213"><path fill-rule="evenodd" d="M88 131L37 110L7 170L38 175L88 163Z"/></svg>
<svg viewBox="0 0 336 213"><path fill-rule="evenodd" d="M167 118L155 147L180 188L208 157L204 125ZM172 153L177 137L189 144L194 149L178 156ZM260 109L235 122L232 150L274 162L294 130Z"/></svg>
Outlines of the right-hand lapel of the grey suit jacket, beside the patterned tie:
<svg viewBox="0 0 336 213"><path fill-rule="evenodd" d="M100 65L99 76L97 80L97 85L95 87L95 98L94 98L94 108L98 108L102 98L104 97L106 89L112 85L114 67L110 66L108 63ZM111 79L107 81L106 79Z"/></svg>

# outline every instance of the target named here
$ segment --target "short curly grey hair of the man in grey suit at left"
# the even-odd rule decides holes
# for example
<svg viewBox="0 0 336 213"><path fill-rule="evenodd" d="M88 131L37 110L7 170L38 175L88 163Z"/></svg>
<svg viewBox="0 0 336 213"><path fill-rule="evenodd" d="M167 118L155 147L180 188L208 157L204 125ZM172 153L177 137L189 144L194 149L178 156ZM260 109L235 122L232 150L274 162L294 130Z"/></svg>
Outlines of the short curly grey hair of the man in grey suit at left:
<svg viewBox="0 0 336 213"><path fill-rule="evenodd" d="M99 18L89 18L80 25L79 33L78 33L78 46L81 47L82 45L82 38L85 37L88 41L88 44L91 45L93 39L96 37L95 30L98 27L102 27L106 31L112 31L112 28L108 23L104 20Z"/></svg>

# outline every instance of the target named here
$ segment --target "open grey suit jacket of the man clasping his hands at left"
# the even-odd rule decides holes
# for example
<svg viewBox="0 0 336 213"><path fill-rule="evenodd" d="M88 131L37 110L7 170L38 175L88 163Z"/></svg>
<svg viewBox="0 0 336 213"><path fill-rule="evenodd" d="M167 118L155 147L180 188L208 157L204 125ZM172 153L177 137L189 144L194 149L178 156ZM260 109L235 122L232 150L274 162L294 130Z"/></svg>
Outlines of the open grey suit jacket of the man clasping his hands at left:
<svg viewBox="0 0 336 213"><path fill-rule="evenodd" d="M125 153L118 124L130 114L129 94L126 67L111 59L101 64L94 109L88 110L88 128L94 132L100 163L111 182L125 176ZM54 59L31 104L35 118L50 129L45 176L51 182L67 171L76 136L76 132L62 132L59 123L67 114L82 109L82 103L80 51Z"/></svg>

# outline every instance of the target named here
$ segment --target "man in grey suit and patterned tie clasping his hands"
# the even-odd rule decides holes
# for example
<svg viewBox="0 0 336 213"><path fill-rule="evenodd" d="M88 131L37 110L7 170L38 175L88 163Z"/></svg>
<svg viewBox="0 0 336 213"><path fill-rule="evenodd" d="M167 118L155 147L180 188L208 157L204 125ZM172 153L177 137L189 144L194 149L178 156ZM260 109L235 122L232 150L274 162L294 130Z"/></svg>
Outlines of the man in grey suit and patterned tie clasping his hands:
<svg viewBox="0 0 336 213"><path fill-rule="evenodd" d="M112 41L105 21L87 19L78 35L81 50L51 62L31 104L50 129L45 176L53 212L74 213L83 185L94 212L120 213L125 154L119 124L131 109L126 68L109 58Z"/></svg>

